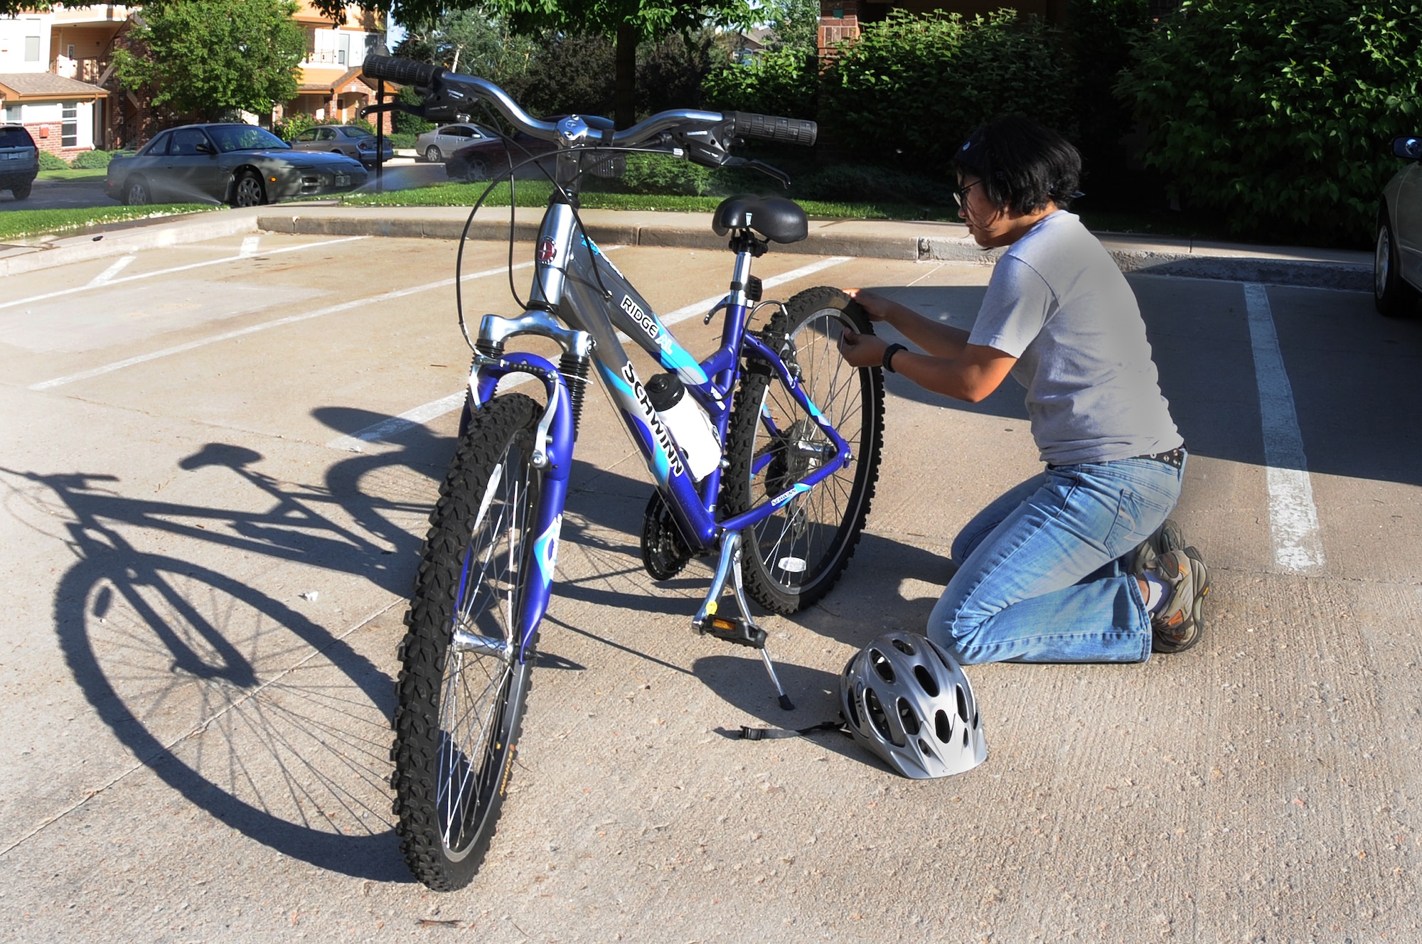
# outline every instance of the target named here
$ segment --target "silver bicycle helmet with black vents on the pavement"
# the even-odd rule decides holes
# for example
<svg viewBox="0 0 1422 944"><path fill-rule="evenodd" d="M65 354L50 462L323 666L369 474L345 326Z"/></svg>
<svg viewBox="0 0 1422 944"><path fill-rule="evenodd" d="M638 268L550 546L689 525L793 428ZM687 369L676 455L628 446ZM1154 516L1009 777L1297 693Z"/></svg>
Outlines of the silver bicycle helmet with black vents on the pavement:
<svg viewBox="0 0 1422 944"><path fill-rule="evenodd" d="M904 776L948 776L987 761L967 675L917 633L886 633L855 653L839 701L855 741Z"/></svg>

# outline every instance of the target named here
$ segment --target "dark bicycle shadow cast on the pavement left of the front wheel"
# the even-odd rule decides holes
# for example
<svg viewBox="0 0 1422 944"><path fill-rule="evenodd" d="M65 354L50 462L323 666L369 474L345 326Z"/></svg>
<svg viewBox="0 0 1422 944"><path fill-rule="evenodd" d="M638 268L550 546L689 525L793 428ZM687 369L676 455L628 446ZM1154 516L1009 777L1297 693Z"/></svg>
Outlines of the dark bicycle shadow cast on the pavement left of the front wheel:
<svg viewBox="0 0 1422 944"><path fill-rule="evenodd" d="M404 597L449 448L412 429L395 449L353 454L311 485L274 478L262 454L226 442L176 462L181 475L235 476L259 496L257 512L249 500L125 496L108 473L0 472L68 509L78 560L54 590L55 634L119 745L183 800L284 856L410 881L385 783L394 643L363 651L358 627L323 626L300 601L195 559L203 545L233 560L297 562Z"/></svg>

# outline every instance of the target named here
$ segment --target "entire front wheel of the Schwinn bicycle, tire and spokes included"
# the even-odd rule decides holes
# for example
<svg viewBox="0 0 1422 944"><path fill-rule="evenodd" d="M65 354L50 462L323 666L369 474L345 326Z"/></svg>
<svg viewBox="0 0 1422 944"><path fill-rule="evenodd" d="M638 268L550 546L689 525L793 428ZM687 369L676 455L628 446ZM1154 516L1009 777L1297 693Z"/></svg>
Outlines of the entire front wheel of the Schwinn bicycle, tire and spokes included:
<svg viewBox="0 0 1422 944"><path fill-rule="evenodd" d="M532 466L540 415L522 394L474 411L429 516L405 616L391 748L395 830L410 870L437 891L462 889L479 870L518 749L532 653L510 663L449 647L456 621L516 638L540 493ZM493 562L502 563L491 570Z"/></svg>

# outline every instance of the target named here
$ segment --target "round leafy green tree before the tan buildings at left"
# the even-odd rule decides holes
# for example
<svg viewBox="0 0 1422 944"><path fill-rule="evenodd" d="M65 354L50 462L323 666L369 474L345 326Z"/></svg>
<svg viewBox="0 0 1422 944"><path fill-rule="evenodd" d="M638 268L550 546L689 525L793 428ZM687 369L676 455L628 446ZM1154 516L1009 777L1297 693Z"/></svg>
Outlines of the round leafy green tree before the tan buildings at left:
<svg viewBox="0 0 1422 944"><path fill-rule="evenodd" d="M158 0L114 51L114 71L155 107L212 121L296 98L306 34L292 0Z"/></svg>

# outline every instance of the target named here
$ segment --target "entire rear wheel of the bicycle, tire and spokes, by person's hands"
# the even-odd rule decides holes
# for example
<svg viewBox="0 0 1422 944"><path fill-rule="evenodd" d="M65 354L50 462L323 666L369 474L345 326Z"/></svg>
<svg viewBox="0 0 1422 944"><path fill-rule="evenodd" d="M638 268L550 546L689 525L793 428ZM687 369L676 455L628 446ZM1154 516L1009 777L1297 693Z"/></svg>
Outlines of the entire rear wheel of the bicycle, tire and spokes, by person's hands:
<svg viewBox="0 0 1422 944"><path fill-rule="evenodd" d="M765 333L772 344L785 338L782 357L799 367L806 395L853 451L850 465L741 532L745 589L774 613L796 613L839 581L859 545L879 479L883 371L845 364L836 333L843 328L873 333L856 301L839 289L820 286L791 299ZM779 435L761 422L762 408L769 409ZM772 387L769 365L752 361L742 371L727 431L729 466L722 505L729 515L779 495L812 471L815 459L796 458L792 441L802 446L795 451L799 454L812 454L828 442L789 391L778 382Z"/></svg>

